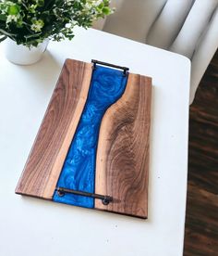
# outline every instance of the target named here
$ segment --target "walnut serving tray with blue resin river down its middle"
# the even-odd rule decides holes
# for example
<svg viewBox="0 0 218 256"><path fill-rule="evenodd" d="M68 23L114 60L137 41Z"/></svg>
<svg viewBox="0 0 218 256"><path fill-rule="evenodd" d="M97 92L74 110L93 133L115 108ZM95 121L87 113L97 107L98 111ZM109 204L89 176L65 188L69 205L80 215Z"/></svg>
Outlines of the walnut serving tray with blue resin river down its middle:
<svg viewBox="0 0 218 256"><path fill-rule="evenodd" d="M147 218L150 122L150 77L67 59L16 193Z"/></svg>

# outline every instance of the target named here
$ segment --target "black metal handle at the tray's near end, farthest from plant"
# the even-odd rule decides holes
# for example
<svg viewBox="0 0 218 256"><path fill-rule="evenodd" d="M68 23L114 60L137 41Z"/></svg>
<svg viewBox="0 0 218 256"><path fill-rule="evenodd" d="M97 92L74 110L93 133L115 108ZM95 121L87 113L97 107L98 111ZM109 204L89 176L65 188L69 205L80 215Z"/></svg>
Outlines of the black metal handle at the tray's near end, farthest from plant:
<svg viewBox="0 0 218 256"><path fill-rule="evenodd" d="M57 191L57 194L59 197L64 197L66 193L69 193L69 194L74 194L74 195L83 196L83 197L101 199L103 202L103 205L108 205L110 202L113 201L113 198L110 196L103 196L103 195L99 195L99 194L69 189L69 188L60 187L60 186L56 187L56 191Z"/></svg>

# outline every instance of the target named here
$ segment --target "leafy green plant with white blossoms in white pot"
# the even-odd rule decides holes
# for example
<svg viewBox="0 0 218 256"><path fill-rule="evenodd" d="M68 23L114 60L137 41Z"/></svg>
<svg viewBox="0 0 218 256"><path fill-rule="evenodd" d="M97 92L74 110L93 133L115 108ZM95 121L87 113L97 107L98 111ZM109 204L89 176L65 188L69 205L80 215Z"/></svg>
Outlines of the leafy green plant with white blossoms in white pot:
<svg viewBox="0 0 218 256"><path fill-rule="evenodd" d="M0 42L7 38L6 58L32 64L49 40L71 40L75 26L112 13L110 0L0 0Z"/></svg>

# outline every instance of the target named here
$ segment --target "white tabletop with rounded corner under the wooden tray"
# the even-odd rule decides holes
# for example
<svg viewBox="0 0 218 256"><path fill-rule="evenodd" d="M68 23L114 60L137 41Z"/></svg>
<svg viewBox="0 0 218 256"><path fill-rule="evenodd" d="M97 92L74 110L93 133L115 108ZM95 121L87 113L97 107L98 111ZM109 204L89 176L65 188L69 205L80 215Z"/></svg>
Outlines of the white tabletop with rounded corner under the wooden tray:
<svg viewBox="0 0 218 256"><path fill-rule="evenodd" d="M0 45L0 255L182 255L188 173L188 58L95 30L50 43L17 66ZM127 66L153 79L149 219L15 195L65 58Z"/></svg>

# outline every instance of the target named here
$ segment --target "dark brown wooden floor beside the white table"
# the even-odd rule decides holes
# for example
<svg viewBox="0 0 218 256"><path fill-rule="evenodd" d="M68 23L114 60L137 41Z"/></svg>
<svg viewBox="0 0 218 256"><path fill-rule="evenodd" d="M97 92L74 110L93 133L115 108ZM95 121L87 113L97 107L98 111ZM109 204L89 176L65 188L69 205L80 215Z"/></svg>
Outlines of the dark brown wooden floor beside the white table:
<svg viewBox="0 0 218 256"><path fill-rule="evenodd" d="M190 107L184 255L218 255L218 51Z"/></svg>

